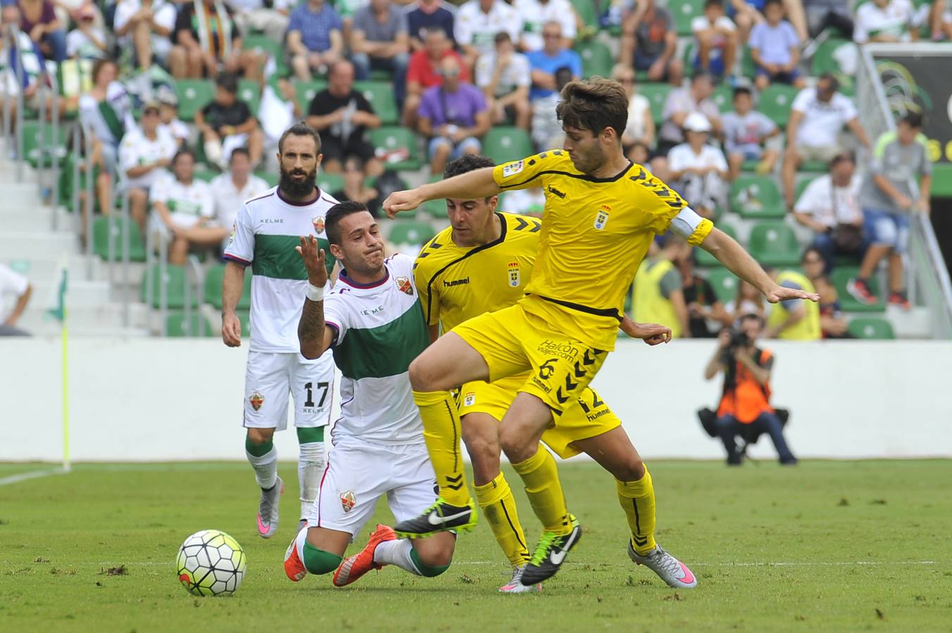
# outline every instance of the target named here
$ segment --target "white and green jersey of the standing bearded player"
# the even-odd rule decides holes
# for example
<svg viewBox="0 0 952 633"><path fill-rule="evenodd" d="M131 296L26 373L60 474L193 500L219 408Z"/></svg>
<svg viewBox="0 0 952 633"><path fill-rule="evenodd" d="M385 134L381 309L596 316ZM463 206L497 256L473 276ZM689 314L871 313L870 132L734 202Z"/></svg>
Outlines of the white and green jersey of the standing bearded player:
<svg viewBox="0 0 952 633"><path fill-rule="evenodd" d="M242 204L235 217L225 259L251 267L251 344L253 352L300 352L297 324L307 290L304 260L294 250L302 236L318 239L334 267L324 217L337 201L320 189L309 202L291 202L272 187Z"/></svg>

